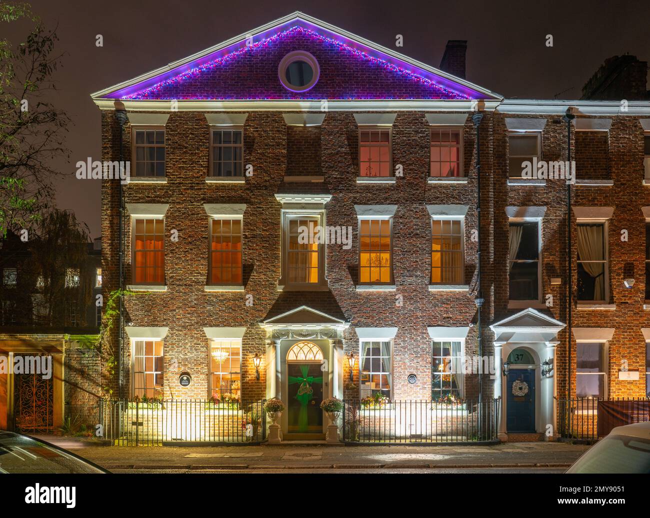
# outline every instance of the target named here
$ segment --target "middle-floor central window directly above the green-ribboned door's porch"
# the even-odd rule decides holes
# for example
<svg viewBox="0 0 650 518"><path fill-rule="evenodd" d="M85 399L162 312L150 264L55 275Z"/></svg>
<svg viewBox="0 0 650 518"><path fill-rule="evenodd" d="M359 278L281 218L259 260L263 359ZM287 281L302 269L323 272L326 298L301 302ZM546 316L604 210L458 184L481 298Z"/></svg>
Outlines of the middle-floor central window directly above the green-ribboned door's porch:
<svg viewBox="0 0 650 518"><path fill-rule="evenodd" d="M289 218L287 232L287 280L289 284L318 284L317 217Z"/></svg>

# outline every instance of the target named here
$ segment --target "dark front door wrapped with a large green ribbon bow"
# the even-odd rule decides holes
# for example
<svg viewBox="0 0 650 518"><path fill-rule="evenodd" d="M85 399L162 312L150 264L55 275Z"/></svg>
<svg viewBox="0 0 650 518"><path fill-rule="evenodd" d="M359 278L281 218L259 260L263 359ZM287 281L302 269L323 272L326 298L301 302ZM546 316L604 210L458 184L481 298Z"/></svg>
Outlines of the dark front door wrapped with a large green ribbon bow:
<svg viewBox="0 0 650 518"><path fill-rule="evenodd" d="M323 399L322 362L287 362L289 381L288 432L322 433Z"/></svg>

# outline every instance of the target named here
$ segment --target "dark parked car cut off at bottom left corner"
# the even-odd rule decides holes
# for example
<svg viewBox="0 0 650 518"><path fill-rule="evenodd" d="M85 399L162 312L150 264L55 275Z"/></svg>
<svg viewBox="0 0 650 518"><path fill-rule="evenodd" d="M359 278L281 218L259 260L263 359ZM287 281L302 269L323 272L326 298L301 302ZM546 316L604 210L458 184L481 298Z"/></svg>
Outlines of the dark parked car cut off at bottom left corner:
<svg viewBox="0 0 650 518"><path fill-rule="evenodd" d="M109 473L47 441L0 430L0 473Z"/></svg>

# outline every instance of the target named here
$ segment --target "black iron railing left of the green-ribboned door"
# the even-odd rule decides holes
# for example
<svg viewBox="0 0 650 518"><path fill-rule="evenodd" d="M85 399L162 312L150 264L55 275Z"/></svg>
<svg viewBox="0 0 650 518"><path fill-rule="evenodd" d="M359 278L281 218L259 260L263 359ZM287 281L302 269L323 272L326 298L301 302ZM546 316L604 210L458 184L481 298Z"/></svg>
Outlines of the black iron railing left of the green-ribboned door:
<svg viewBox="0 0 650 518"><path fill-rule="evenodd" d="M265 400L107 400L104 438L120 446L257 443L266 438Z"/></svg>

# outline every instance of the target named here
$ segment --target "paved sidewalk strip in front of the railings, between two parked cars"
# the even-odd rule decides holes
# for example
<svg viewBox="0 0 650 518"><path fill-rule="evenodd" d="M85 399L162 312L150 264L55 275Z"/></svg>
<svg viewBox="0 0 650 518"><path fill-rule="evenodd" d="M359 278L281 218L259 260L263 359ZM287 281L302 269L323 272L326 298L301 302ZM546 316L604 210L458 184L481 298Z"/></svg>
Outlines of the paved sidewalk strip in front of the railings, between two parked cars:
<svg viewBox="0 0 650 518"><path fill-rule="evenodd" d="M458 447L346 447L291 443L226 447L75 446L79 446L73 449L76 454L109 470L564 468L589 448L584 445L543 442Z"/></svg>

